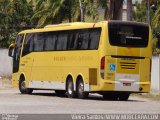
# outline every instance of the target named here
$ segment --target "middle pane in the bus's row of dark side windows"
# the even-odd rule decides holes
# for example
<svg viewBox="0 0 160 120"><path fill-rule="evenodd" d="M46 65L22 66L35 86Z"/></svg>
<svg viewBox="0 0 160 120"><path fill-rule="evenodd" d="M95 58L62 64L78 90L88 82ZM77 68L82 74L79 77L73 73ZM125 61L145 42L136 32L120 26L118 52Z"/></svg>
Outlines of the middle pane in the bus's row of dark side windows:
<svg viewBox="0 0 160 120"><path fill-rule="evenodd" d="M63 31L58 34L56 50L67 50L68 33Z"/></svg>

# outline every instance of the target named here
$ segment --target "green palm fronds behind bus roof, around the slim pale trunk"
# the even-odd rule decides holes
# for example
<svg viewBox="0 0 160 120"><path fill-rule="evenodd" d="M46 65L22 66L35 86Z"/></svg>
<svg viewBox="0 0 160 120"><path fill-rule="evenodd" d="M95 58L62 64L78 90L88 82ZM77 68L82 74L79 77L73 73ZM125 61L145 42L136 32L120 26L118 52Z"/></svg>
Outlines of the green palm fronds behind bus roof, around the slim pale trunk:
<svg viewBox="0 0 160 120"><path fill-rule="evenodd" d="M32 19L38 20L38 27L45 24L56 24L68 20L81 21L80 2L82 2L82 16L96 19L97 9L93 7L93 0L37 0L35 14Z"/></svg>

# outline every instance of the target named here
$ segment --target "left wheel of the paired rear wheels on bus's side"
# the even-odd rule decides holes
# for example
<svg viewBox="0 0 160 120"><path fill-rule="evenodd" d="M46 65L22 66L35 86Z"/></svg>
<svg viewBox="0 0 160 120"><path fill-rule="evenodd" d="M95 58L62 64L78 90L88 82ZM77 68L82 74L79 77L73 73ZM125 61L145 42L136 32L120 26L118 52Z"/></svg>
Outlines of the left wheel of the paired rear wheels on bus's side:
<svg viewBox="0 0 160 120"><path fill-rule="evenodd" d="M66 93L67 93L68 98L74 98L75 97L74 84L73 84L73 79L71 77L69 77L68 80L67 80Z"/></svg>

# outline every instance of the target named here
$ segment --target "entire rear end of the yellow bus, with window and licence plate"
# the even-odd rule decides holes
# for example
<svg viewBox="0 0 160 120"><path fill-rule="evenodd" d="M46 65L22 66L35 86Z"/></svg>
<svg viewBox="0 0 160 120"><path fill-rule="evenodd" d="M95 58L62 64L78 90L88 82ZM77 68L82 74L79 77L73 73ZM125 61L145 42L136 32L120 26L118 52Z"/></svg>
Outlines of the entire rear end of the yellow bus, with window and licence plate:
<svg viewBox="0 0 160 120"><path fill-rule="evenodd" d="M151 30L143 23L108 22L105 54L101 58L104 98L127 100L130 93L150 91ZM113 91L114 92L113 92ZM115 92L116 91L116 92Z"/></svg>

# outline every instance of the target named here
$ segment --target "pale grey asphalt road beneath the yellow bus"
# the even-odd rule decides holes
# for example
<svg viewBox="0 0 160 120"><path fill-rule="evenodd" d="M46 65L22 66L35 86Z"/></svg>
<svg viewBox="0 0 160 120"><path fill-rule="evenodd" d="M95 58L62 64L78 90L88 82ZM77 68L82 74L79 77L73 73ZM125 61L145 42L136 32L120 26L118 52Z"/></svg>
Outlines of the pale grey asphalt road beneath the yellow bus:
<svg viewBox="0 0 160 120"><path fill-rule="evenodd" d="M131 96L128 101L104 101L99 95L88 99L58 97L54 91L22 95L17 89L0 89L0 114L108 114L160 113L160 102Z"/></svg>

